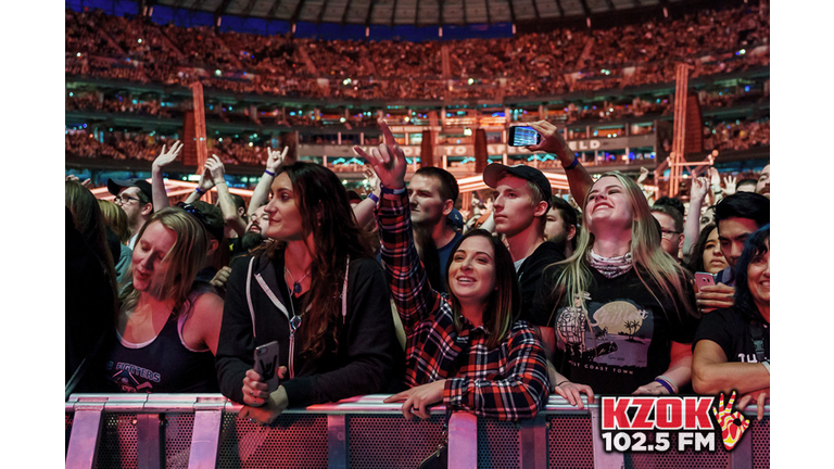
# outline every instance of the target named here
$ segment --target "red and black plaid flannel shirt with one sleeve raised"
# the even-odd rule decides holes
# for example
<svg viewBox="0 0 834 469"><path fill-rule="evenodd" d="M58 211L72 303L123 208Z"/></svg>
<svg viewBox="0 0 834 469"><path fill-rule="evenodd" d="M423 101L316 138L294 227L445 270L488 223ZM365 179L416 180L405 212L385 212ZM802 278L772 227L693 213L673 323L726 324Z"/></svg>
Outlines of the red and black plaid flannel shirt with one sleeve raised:
<svg viewBox="0 0 834 469"><path fill-rule="evenodd" d="M493 350L483 326L462 317L458 332L452 305L431 289L417 256L405 191L383 191L377 218L386 276L407 337L406 384L445 379L443 403L451 408L500 420L535 416L547 401L549 381L532 327L516 321Z"/></svg>

